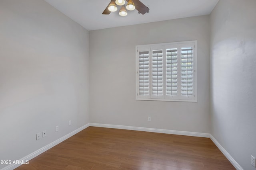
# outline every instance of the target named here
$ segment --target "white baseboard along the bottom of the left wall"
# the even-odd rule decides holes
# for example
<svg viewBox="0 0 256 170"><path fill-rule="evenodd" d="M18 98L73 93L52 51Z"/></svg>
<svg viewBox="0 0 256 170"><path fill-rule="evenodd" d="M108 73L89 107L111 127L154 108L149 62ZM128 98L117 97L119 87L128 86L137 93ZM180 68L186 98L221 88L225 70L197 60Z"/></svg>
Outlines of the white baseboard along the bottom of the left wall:
<svg viewBox="0 0 256 170"><path fill-rule="evenodd" d="M76 130L74 130L74 131L68 133L68 134L65 135L64 137L61 137L60 139L57 139L56 141L54 141L54 142L52 142L52 143L50 143L50 144L48 144L48 145L46 145L46 146L44 146L44 147L42 147L42 148L36 150L35 152L33 152L33 153L31 153L31 154L29 154L29 155L27 155L27 156L21 158L20 161L26 162L26 160L31 160L31 159L35 158L36 156L42 154L42 153L45 152L46 150L51 149L52 147L58 145L59 143L65 141L66 139L72 137L72 136L75 135L76 133L78 133L78 132L80 132L80 131L86 129L87 127L89 127L89 123L87 123L86 125L84 125L84 126L78 128L78 129L76 129ZM8 166L2 168L1 170L13 170L13 169L19 167L20 165L21 165L21 164L10 164L10 165L8 165Z"/></svg>

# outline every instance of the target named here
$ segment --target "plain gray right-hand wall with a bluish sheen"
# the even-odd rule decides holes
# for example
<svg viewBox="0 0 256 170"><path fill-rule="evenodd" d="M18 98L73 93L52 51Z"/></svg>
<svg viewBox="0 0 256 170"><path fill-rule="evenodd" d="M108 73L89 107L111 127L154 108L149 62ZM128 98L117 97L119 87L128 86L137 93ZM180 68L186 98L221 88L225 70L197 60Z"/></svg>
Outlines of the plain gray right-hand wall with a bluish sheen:
<svg viewBox="0 0 256 170"><path fill-rule="evenodd" d="M211 134L242 166L255 170L256 1L220 0L211 19Z"/></svg>

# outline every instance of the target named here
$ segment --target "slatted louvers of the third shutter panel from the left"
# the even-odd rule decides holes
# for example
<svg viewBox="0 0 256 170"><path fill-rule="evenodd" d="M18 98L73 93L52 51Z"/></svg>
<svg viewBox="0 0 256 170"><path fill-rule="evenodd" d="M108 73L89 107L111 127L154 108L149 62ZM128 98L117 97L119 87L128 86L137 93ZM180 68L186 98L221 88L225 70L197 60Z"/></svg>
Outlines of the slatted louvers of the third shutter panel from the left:
<svg viewBox="0 0 256 170"><path fill-rule="evenodd" d="M166 95L178 94L178 58L177 48L166 49Z"/></svg>

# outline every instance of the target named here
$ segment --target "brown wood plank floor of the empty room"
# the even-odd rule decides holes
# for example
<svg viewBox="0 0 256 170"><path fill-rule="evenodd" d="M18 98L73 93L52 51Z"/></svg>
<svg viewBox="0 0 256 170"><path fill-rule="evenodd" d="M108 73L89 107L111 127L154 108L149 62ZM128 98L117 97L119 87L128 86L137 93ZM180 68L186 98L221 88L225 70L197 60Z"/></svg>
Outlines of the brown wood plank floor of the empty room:
<svg viewBox="0 0 256 170"><path fill-rule="evenodd" d="M235 170L209 138L88 127L16 170Z"/></svg>

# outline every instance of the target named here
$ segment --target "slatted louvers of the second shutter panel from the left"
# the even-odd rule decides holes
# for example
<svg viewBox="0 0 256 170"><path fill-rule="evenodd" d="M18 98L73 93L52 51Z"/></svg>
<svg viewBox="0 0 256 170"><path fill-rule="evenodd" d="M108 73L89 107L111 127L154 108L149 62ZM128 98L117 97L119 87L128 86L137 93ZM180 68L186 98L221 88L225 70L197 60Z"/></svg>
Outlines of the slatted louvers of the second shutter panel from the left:
<svg viewBox="0 0 256 170"><path fill-rule="evenodd" d="M152 50L152 95L163 95L163 50Z"/></svg>

